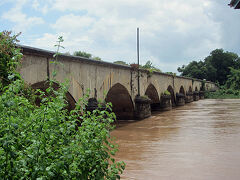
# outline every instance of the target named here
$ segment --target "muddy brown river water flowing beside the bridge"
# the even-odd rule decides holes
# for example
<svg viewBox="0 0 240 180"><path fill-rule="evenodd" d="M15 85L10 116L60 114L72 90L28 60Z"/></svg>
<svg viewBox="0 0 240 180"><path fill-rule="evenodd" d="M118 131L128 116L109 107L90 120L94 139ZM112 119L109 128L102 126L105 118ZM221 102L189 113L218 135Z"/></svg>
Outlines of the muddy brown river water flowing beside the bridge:
<svg viewBox="0 0 240 180"><path fill-rule="evenodd" d="M112 132L121 179L240 179L240 100L200 100Z"/></svg>

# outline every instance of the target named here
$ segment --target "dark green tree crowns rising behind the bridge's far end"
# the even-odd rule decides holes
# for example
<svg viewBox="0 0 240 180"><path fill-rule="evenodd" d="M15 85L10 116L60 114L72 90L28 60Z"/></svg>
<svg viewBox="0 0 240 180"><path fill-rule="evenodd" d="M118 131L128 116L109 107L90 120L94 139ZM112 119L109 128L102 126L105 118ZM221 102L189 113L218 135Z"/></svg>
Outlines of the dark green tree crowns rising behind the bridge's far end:
<svg viewBox="0 0 240 180"><path fill-rule="evenodd" d="M206 79L212 82L219 82L224 85L231 74L230 68L240 68L240 58L232 52L224 52L223 49L216 49L203 61L192 61L187 66L178 68L181 75Z"/></svg>

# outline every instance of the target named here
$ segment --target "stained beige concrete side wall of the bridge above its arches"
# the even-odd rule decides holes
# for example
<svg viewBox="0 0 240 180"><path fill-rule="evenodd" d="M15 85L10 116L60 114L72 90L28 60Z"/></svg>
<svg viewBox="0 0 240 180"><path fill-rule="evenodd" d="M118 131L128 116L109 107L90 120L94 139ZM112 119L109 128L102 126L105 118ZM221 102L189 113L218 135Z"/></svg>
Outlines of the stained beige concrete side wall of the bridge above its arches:
<svg viewBox="0 0 240 180"><path fill-rule="evenodd" d="M27 83L33 85L48 78L51 79L52 73L56 71L56 80L69 81L69 93L75 101L78 101L87 89L90 90L90 97L105 99L110 89L117 85L122 88L122 91L118 92L123 93L121 97L124 96L124 93L126 97L130 96L131 103L135 106L134 99L138 94L137 71L131 67L67 55L60 55L57 63L51 63L53 52L26 46L21 46L21 48L24 58L19 71ZM150 86L151 88L148 89ZM141 96L145 95L148 89L147 93L156 95L160 99L161 94L169 86L173 88L176 98L176 93L180 92L181 87L184 89L184 94L190 89L200 91L202 81L158 72L149 74L148 71L140 71ZM206 90L215 90L217 87L214 83L206 82L205 88ZM149 92L152 89L156 89L157 93ZM121 99L119 99L120 101Z"/></svg>

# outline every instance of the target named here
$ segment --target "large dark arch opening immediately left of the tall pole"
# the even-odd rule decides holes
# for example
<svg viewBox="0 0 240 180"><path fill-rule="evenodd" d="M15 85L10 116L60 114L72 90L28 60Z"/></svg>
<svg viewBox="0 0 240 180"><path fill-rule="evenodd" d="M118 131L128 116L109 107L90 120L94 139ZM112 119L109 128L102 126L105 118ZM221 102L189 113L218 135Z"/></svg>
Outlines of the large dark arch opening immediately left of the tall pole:
<svg viewBox="0 0 240 180"><path fill-rule="evenodd" d="M134 105L127 88L122 84L113 85L106 96L106 102L112 103L112 110L117 119L133 119Z"/></svg>

